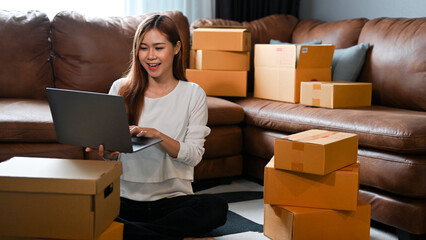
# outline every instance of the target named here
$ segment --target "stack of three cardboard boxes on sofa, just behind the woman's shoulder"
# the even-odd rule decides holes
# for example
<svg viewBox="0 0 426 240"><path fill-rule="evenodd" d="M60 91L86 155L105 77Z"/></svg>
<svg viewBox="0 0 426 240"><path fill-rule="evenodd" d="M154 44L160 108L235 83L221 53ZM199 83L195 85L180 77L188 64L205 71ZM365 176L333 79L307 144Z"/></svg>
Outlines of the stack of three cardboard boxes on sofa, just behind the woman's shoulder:
<svg viewBox="0 0 426 240"><path fill-rule="evenodd" d="M245 97L251 34L244 28L199 28L192 36L189 81L207 95Z"/></svg>

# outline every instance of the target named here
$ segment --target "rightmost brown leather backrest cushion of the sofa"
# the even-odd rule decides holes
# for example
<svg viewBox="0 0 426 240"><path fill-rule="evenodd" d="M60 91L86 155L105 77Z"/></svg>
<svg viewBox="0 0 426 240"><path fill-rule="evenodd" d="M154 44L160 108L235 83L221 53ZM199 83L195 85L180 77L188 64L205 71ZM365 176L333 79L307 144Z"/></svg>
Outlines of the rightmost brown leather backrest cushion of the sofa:
<svg viewBox="0 0 426 240"><path fill-rule="evenodd" d="M373 104L426 111L426 18L377 18L359 42L370 43L360 80Z"/></svg>

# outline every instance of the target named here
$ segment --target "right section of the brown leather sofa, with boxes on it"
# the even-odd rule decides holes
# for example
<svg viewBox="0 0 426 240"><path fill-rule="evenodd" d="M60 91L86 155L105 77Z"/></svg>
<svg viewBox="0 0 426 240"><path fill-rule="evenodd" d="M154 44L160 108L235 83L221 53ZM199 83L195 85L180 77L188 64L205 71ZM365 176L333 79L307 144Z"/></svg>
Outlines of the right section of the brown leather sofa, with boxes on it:
<svg viewBox="0 0 426 240"><path fill-rule="evenodd" d="M235 100L245 112L244 173L263 179L276 138L312 128L356 133L359 198L372 205L372 219L396 227L400 239L426 233L426 18L199 19L191 31L202 26L245 26L252 44L322 40L341 49L369 43L358 81L372 83L371 107L325 109L253 97ZM249 76L253 87L253 71Z"/></svg>

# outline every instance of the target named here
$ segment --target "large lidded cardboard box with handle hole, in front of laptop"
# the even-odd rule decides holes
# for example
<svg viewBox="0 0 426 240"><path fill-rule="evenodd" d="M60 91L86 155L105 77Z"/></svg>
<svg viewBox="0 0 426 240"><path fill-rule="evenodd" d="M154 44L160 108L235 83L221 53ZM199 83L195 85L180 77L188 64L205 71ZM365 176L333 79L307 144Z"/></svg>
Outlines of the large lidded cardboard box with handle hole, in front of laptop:
<svg viewBox="0 0 426 240"><path fill-rule="evenodd" d="M96 239L119 214L121 173L117 161L0 163L0 238Z"/></svg>

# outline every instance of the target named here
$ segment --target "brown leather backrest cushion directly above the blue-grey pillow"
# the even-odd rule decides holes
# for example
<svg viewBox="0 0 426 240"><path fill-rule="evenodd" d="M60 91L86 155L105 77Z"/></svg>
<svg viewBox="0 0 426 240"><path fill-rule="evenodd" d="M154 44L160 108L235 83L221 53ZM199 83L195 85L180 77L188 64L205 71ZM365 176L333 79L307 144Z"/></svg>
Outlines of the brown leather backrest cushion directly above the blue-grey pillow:
<svg viewBox="0 0 426 240"><path fill-rule="evenodd" d="M292 43L304 43L321 40L324 44L333 44L336 48L348 48L358 43L366 18L356 18L335 22L315 19L303 19L294 29Z"/></svg>

